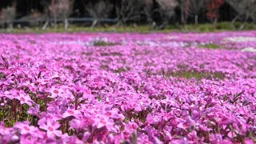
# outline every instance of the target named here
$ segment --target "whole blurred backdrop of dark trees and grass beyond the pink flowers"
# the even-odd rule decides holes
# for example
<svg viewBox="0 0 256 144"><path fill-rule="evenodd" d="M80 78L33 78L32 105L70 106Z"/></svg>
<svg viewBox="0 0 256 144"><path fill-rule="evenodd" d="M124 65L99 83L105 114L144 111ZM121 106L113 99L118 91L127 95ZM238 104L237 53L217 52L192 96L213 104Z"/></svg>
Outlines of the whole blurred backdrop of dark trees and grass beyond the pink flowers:
<svg viewBox="0 0 256 144"><path fill-rule="evenodd" d="M2 29L254 29L256 0L1 0ZM73 26L70 26L70 23ZM203 24L197 26L198 24ZM142 27L144 26L144 27ZM191 27L192 26L192 27ZM73 29L72 29L73 27ZM117 30L117 29L115 29ZM136 30L136 29L135 29Z"/></svg>

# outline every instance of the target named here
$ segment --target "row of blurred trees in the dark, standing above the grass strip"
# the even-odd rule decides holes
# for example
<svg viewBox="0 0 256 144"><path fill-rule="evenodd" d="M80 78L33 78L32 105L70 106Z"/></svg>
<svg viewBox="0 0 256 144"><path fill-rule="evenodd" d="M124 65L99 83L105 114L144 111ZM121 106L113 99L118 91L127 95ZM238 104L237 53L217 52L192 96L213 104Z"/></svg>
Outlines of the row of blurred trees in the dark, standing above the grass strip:
<svg viewBox="0 0 256 144"><path fill-rule="evenodd" d="M0 10L1 25L11 26L14 18L17 18L16 1ZM40 19L53 19L56 24L61 19L67 28L68 18L76 12L76 2L78 0L44 0L40 2L41 12L31 10L22 19L27 19L30 24L38 24ZM234 11L232 22L254 22L256 14L256 0L80 0L80 3L85 11L84 15L94 18L92 26L98 23L99 18L117 18L118 25L148 22L160 28L170 22L198 23L199 19L217 22L222 13L229 13L225 10L219 12L223 5L230 6Z"/></svg>

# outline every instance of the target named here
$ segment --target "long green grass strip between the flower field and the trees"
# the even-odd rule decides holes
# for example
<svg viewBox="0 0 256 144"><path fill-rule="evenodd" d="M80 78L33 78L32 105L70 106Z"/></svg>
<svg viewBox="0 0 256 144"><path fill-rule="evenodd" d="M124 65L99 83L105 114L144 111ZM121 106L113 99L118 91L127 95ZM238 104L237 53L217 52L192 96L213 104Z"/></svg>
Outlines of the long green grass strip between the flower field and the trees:
<svg viewBox="0 0 256 144"><path fill-rule="evenodd" d="M14 28L13 30L1 30L2 33L49 33L49 32L136 32L136 33L151 33L151 32L210 32L210 31L224 31L224 30L239 30L242 26L242 22L234 22L231 25L230 22L219 22L216 24L189 24L189 25L170 25L166 26L165 29L153 29L149 25L129 25L129 26L95 26L94 28L86 26L70 25L68 30L64 30L62 24L58 25L57 28L54 26L48 27L46 30L42 30L41 27L27 27L27 28ZM246 23L242 30L256 30L255 24Z"/></svg>

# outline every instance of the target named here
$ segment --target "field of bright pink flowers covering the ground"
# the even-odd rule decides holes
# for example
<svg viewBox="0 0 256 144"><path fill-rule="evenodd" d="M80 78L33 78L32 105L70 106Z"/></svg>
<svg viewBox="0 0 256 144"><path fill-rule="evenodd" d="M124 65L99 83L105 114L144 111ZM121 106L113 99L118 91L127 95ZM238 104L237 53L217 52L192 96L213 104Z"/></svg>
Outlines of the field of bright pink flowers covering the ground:
<svg viewBox="0 0 256 144"><path fill-rule="evenodd" d="M254 143L256 31L0 34L0 143Z"/></svg>

